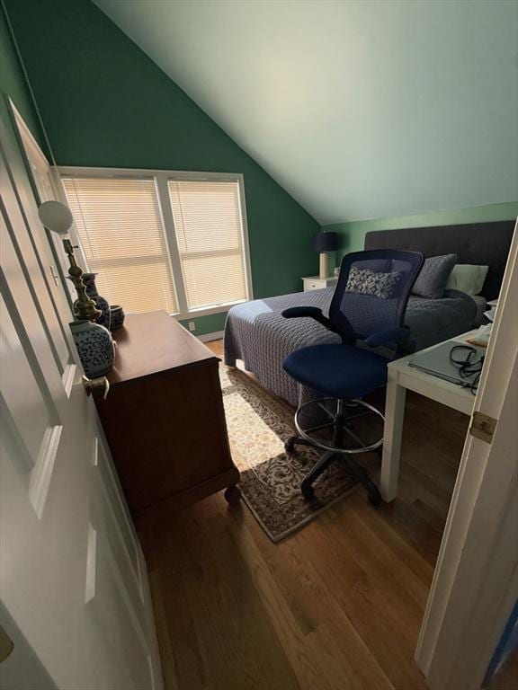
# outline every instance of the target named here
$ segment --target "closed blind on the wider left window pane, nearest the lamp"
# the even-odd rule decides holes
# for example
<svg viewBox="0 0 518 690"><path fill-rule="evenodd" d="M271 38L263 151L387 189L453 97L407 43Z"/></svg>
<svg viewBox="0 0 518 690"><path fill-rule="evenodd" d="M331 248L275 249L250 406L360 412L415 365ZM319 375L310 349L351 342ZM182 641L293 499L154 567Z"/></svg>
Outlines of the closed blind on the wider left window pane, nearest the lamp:
<svg viewBox="0 0 518 690"><path fill-rule="evenodd" d="M178 311L153 179L65 177L99 293L126 312Z"/></svg>

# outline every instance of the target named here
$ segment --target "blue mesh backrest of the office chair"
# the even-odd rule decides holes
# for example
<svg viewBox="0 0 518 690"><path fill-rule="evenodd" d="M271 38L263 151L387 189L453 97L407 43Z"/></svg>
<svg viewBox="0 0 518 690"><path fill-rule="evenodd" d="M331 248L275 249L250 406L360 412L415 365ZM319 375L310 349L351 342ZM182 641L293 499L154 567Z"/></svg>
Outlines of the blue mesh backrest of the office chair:
<svg viewBox="0 0 518 690"><path fill-rule="evenodd" d="M423 254L380 249L346 254L329 307L345 338L361 340L403 326L406 303L423 266Z"/></svg>

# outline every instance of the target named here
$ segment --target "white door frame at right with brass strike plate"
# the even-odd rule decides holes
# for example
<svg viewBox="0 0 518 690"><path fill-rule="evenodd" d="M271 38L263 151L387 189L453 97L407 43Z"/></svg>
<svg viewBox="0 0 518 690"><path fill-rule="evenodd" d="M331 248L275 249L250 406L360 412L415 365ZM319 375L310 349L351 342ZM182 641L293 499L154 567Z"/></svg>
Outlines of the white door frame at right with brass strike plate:
<svg viewBox="0 0 518 690"><path fill-rule="evenodd" d="M482 686L518 597L516 295L518 223L474 405L498 421L490 443L466 437L415 651L431 690Z"/></svg>

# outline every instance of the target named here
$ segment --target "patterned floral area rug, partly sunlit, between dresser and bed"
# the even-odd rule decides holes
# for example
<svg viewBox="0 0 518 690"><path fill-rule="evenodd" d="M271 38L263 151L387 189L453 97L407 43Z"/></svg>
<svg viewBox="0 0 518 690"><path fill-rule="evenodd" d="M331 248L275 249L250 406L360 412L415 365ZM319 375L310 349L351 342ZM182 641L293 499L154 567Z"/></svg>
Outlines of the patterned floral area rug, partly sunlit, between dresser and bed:
<svg viewBox="0 0 518 690"><path fill-rule="evenodd" d="M219 371L243 498L272 542L279 542L353 491L357 482L334 463L315 482L315 500L304 500L300 482L320 451L299 447L293 456L284 452L284 441L294 431L292 408L244 372L224 365Z"/></svg>

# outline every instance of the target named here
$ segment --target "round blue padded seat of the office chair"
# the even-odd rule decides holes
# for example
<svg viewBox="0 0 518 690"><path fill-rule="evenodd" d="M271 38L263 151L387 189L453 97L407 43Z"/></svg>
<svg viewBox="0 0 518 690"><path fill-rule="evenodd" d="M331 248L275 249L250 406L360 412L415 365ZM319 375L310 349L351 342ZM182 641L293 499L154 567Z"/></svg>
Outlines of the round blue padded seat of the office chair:
<svg viewBox="0 0 518 690"><path fill-rule="evenodd" d="M284 370L300 384L340 400L362 398L387 383L388 360L351 345L313 345L284 358Z"/></svg>

